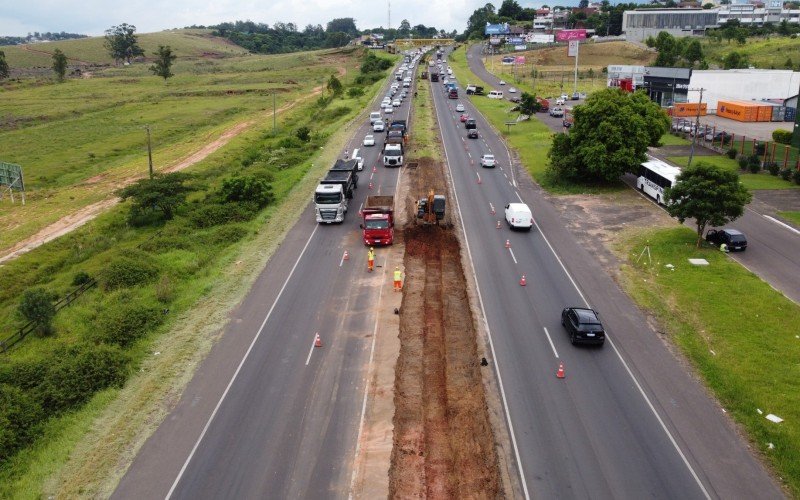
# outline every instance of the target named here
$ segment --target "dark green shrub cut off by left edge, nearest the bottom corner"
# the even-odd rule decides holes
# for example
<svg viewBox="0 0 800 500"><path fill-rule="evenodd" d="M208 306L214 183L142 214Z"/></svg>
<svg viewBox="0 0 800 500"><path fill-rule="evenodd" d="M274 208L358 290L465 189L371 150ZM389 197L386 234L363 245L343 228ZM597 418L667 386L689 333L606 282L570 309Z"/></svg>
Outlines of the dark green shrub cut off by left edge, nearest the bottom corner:
<svg viewBox="0 0 800 500"><path fill-rule="evenodd" d="M27 444L44 418L42 407L21 389L0 384L0 463Z"/></svg>

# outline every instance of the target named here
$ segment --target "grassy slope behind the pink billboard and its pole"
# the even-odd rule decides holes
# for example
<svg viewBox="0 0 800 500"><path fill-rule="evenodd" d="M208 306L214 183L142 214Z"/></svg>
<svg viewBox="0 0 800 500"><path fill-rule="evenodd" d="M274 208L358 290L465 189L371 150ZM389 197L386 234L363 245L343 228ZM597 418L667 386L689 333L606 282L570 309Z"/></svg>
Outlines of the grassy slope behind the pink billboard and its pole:
<svg viewBox="0 0 800 500"><path fill-rule="evenodd" d="M487 56L484 64L492 73L527 92L543 97L555 97L574 90L575 59L567 56L566 47L549 47L514 53L525 56L521 68L502 64L503 55ZM656 54L628 42L582 43L578 55L578 92L591 93L606 87L603 68L610 64L646 66ZM536 69L537 77L532 76ZM592 75L589 75L589 69Z"/></svg>

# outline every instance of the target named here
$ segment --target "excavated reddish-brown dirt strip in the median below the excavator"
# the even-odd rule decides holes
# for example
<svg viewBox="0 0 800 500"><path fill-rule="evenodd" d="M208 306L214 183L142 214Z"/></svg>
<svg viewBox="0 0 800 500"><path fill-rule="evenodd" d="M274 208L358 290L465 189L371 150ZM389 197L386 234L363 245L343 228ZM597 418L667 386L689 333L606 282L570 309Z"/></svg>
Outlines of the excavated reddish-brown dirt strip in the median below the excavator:
<svg viewBox="0 0 800 500"><path fill-rule="evenodd" d="M446 188L442 165L429 158L407 175L411 221L414 199ZM502 496L476 329L450 227L412 222L404 230L391 498Z"/></svg>

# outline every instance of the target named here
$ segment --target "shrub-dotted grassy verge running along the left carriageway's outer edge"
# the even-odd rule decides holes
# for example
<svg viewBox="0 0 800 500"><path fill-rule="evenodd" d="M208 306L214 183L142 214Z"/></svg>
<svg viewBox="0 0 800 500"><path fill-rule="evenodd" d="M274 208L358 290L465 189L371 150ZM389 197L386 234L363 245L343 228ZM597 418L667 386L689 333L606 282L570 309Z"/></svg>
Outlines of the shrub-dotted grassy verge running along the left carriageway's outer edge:
<svg viewBox="0 0 800 500"><path fill-rule="evenodd" d="M331 64L333 57L340 64ZM324 60L318 63L324 71L300 64L276 70L284 71L280 78L300 81L315 71L323 75L338 68L351 71L361 62L360 52L295 58ZM264 72L263 78L270 75ZM217 76L224 83L225 75ZM113 83L114 78L108 80ZM314 83L311 80L307 85ZM124 472L121 462L130 460L132 451L164 417L168 409L164 401L180 394L229 321L229 311L240 303L303 212L319 176L348 138L353 119L366 109L382 83L365 88L361 97L337 98L324 106L315 99L296 99L296 106L279 116L277 134L271 120L257 121L190 169L195 191L172 221L131 227L128 206L123 204L4 265L0 338L20 324L14 309L28 288L39 286L63 295L72 288L76 272L97 276L110 262L123 257L144 259L158 269L161 278L124 290L87 292L57 314L54 335L31 335L0 358L0 375L7 364L48 359L57 345L96 339L94 335L103 333L98 321L119 308L161 311L166 306L168 314L163 318L159 314L155 326L126 348L132 377L122 388L97 392L86 404L48 419L30 446L0 466L0 498L110 496ZM180 101L176 99L171 106L179 107ZM312 131L306 144L297 143L294 137L301 125ZM204 218L204 209L215 203L213 196L222 181L248 174L269 179L276 201L250 212L252 218L247 220L209 222Z"/></svg>

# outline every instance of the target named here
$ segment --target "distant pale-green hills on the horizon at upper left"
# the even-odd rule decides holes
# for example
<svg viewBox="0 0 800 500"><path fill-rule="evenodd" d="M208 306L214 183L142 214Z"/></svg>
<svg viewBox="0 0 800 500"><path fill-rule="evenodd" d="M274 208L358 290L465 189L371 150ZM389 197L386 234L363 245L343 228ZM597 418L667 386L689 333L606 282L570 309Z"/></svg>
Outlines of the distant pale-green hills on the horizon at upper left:
<svg viewBox="0 0 800 500"><path fill-rule="evenodd" d="M169 45L180 59L200 57L232 57L247 54L247 50L229 40L211 35L211 30L181 29L158 33L137 34L145 59L152 59L159 45ZM14 69L49 68L52 54L61 49L69 59L70 66L111 66L114 60L103 47L103 37L61 40L57 42L30 43L0 46L6 61Z"/></svg>

